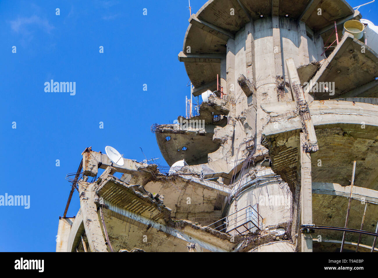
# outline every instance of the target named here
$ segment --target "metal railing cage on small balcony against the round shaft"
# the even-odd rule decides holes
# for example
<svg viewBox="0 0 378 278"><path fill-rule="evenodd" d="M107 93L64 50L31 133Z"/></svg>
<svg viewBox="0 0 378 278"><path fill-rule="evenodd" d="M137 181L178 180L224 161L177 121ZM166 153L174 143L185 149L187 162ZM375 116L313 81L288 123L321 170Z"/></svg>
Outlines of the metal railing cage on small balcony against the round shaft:
<svg viewBox="0 0 378 278"><path fill-rule="evenodd" d="M256 206L256 209L254 208ZM231 233L231 231L237 231L239 235L246 235L248 233L253 233L253 229L257 228L257 230L261 230L262 228L262 216L259 214L259 204L255 206L247 206L242 208L222 219L215 221L214 223L208 225L218 225L214 229L221 231L223 233ZM243 212L243 213L242 213ZM242 214L239 214L242 213ZM232 219L230 219L232 218ZM233 222L233 223L231 223ZM220 225L219 225L220 224ZM225 226L225 227L222 227ZM219 230L219 228L221 228ZM239 229L239 230L238 230Z"/></svg>

